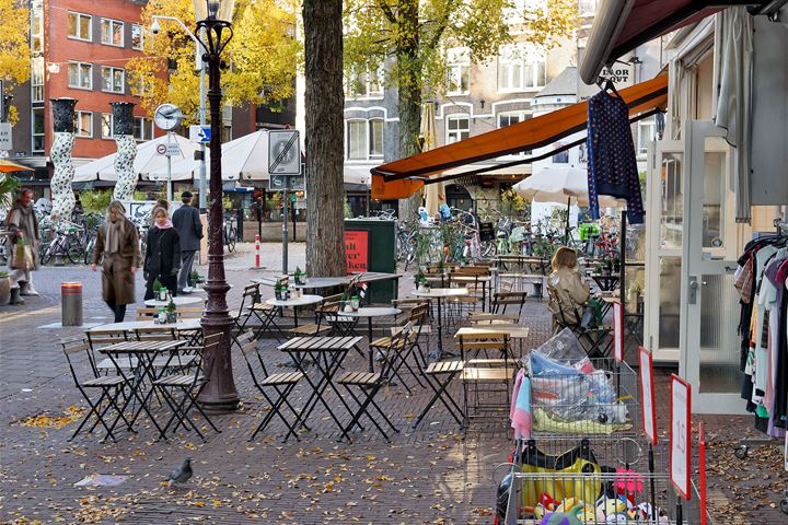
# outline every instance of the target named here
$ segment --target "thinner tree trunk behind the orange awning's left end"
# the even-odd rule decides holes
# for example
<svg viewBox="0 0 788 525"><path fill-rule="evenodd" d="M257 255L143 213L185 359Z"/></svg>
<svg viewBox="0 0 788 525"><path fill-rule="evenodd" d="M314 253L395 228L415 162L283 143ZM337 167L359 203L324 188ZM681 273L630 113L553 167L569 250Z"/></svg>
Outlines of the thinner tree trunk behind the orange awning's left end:
<svg viewBox="0 0 788 525"><path fill-rule="evenodd" d="M396 57L399 68L397 113L399 114L399 159L419 152L421 132L421 67L418 59L419 20L417 0L399 0L398 13L402 36ZM399 218L412 219L421 206L421 192L399 201Z"/></svg>

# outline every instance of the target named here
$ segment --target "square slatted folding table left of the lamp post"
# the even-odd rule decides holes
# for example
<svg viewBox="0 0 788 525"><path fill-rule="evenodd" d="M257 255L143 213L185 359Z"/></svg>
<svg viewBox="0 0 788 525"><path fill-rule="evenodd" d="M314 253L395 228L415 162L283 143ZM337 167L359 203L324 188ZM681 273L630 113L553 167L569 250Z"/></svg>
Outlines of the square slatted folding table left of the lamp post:
<svg viewBox="0 0 788 525"><path fill-rule="evenodd" d="M140 406L135 411L131 421L127 422L129 430L134 431L135 421L137 421L139 415L144 411L146 415L148 415L148 418L153 422L153 425L159 431L161 438L164 438L165 429L162 429L159 425L148 407L151 394L153 394L153 381L158 378L153 362L155 361L157 355L159 355L160 353L169 352L176 348L183 347L184 345L186 345L186 341L184 341L183 339L175 341L123 341L99 350L100 352L106 353L109 357L113 363L115 363L118 374L120 374L125 380L128 380L129 384L131 385L129 396L126 398L123 407L120 407L119 413L117 418L115 418L115 421L113 421L112 427L109 427L111 432L115 429L115 425L121 418L126 420L126 418L123 417L123 412L124 410L126 410L126 407L128 407L129 402L131 402L131 399L136 399L137 401L139 401ZM136 362L136 365L131 369L131 374L134 375L132 377L126 376L124 369L116 361L116 358L118 355L128 355L129 362ZM136 361L132 358L136 358ZM124 362L126 362L126 360L124 360ZM151 385L151 387L150 389L148 389L147 393L144 393L144 396L141 396L140 394L146 382Z"/></svg>

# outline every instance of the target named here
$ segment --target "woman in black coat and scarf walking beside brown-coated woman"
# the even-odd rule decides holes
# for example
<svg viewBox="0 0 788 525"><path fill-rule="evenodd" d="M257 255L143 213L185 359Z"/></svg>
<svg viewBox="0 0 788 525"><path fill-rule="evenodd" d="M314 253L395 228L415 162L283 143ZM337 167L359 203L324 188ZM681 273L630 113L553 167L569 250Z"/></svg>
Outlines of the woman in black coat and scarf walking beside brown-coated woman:
<svg viewBox="0 0 788 525"><path fill-rule="evenodd" d="M153 210L153 225L148 230L144 260L146 301L153 299L153 282L177 295L177 272L181 269L181 240L164 208Z"/></svg>

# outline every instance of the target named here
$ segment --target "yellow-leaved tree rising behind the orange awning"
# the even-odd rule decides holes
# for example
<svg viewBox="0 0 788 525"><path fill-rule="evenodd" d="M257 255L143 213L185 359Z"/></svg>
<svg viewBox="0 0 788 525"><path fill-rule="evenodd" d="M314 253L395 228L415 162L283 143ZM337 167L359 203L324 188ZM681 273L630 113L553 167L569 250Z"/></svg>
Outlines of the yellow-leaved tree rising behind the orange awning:
<svg viewBox="0 0 788 525"><path fill-rule="evenodd" d="M384 81L398 90L398 154L406 158L418 153L422 97L449 86L447 48L466 47L476 63L515 40L548 48L575 28L577 2L346 0L344 16L346 75L374 74L385 66ZM412 214L415 206L403 212Z"/></svg>

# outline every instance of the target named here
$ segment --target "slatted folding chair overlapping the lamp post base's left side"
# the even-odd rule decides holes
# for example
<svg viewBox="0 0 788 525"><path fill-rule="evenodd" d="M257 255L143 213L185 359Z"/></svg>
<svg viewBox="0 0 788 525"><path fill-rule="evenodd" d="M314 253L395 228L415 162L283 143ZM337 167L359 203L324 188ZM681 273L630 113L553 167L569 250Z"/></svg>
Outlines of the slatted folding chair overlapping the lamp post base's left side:
<svg viewBox="0 0 788 525"><path fill-rule="evenodd" d="M197 363L196 370L192 373L165 375L153 382L153 388L161 393L162 397L173 412L170 420L167 420L166 424L162 428L159 439L166 441L166 431L170 429L170 425L175 422L174 430L177 430L178 427L183 427L185 430L188 430L188 427L192 427L200 439L206 441L206 438L202 435L202 432L200 432L199 427L189 417L189 411L193 407L200 412L202 418L205 418L208 424L210 424L216 432L221 433L221 430L213 424L208 415L202 410L199 404L197 404L197 398L202 392L202 388L205 388L208 384L208 377L210 377L211 369L216 364L216 359L211 357L206 365L206 352L216 351L216 347L219 345L221 338L221 332L211 334L210 336L205 337L205 343L201 348L181 347L172 350L173 359L176 359L178 353L188 355L194 354ZM181 390L183 394L179 400L177 400L173 394L176 390Z"/></svg>

